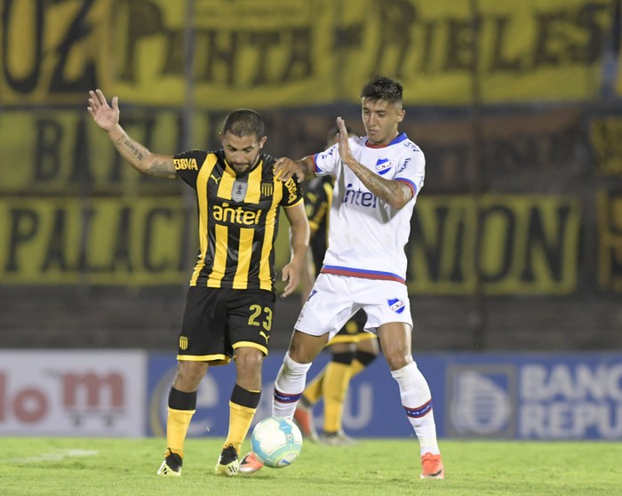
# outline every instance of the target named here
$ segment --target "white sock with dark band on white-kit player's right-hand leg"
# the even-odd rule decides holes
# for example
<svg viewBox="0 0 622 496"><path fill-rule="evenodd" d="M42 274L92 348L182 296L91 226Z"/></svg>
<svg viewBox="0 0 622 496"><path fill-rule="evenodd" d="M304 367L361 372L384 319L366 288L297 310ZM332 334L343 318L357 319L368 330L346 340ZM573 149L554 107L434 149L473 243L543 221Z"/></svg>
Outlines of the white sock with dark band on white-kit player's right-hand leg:
<svg viewBox="0 0 622 496"><path fill-rule="evenodd" d="M398 371L391 372L391 375L400 387L402 405L419 439L421 454L439 454L435 415L432 411L432 394L426 378L414 362Z"/></svg>

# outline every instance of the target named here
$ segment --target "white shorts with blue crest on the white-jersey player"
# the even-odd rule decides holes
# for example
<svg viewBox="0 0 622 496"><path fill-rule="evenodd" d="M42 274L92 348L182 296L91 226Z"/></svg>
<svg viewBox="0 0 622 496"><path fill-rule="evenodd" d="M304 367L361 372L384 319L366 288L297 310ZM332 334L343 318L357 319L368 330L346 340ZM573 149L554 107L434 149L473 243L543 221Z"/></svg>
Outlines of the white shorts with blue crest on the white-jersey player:
<svg viewBox="0 0 622 496"><path fill-rule="evenodd" d="M360 308L367 314L367 332L375 333L390 322L403 322L412 329L405 284L334 274L317 277L294 328L312 336L328 333L331 339Z"/></svg>

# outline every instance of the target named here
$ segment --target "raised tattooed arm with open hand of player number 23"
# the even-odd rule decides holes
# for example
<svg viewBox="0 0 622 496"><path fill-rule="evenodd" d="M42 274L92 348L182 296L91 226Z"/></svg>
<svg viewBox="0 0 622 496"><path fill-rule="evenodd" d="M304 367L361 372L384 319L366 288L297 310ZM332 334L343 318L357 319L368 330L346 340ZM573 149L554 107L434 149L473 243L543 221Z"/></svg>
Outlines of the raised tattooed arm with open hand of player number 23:
<svg viewBox="0 0 622 496"><path fill-rule="evenodd" d="M110 107L101 90L90 91L89 95L91 98L89 98L87 110L93 121L101 129L108 132L115 148L134 169L159 178L175 179L177 177L172 156L151 153L147 147L136 140L132 140L121 127L119 124L118 97L112 99L112 107Z"/></svg>

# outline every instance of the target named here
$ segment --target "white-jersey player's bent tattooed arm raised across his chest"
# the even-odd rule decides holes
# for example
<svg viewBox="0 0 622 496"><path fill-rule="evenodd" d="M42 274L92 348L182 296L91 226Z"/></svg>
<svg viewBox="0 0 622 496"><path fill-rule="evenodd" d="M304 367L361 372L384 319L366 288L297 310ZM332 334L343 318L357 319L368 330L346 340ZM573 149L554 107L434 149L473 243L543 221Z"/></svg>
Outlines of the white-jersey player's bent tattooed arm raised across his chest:
<svg viewBox="0 0 622 496"><path fill-rule="evenodd" d="M371 193L390 204L396 210L400 210L405 204L410 202L415 194L411 186L405 181L381 178L363 164L359 164L350 151L346 123L341 117L338 117L337 124L339 125L339 155L343 163L355 173L356 177L363 182Z"/></svg>

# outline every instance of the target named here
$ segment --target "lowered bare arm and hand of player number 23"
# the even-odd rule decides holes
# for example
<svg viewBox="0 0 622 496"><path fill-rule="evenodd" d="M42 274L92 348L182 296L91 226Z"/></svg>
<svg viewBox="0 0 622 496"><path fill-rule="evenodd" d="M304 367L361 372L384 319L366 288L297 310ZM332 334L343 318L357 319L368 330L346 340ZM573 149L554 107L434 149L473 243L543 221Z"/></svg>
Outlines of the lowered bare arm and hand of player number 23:
<svg viewBox="0 0 622 496"><path fill-rule="evenodd" d="M309 245L309 222L305 213L305 203L300 200L297 204L284 208L287 220L290 221L290 248L291 260L283 267L282 280L287 281L281 298L287 298L300 282L300 270L305 264Z"/></svg>

